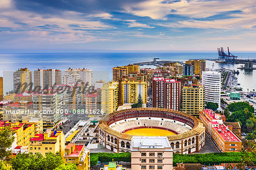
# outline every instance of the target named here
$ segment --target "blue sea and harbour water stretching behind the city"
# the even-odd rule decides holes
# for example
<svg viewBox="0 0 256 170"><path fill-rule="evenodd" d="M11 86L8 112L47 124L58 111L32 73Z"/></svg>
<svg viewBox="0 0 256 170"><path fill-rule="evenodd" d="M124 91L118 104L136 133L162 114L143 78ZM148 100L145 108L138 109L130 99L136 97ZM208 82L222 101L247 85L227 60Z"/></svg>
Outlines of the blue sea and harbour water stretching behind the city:
<svg viewBox="0 0 256 170"><path fill-rule="evenodd" d="M255 59L256 53L236 53L238 59ZM34 71L37 69L59 69L64 71L69 67L86 68L93 70L93 82L97 80L112 80L112 68L128 65L129 63L152 61L153 58L168 61L183 61L188 59L216 59L214 52L109 52L109 53L0 53L0 76L3 76L4 94L13 90L13 72L18 68L27 67ZM206 67L215 69L221 67L238 70L241 65L216 63L207 61ZM152 67L144 65L144 67ZM239 70L238 83L243 91L256 90L256 70Z"/></svg>

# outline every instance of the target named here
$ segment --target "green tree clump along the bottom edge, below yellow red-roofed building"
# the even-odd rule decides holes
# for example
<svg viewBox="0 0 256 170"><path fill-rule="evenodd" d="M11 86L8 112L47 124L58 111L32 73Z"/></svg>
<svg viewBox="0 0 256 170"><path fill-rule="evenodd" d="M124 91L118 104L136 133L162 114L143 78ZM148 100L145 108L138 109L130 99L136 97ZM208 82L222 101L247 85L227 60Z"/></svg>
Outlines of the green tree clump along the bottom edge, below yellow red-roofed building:
<svg viewBox="0 0 256 170"><path fill-rule="evenodd" d="M11 166L15 170L53 170L63 164L63 159L59 152L53 154L46 153L43 156L40 153L36 154L18 154L11 160Z"/></svg>

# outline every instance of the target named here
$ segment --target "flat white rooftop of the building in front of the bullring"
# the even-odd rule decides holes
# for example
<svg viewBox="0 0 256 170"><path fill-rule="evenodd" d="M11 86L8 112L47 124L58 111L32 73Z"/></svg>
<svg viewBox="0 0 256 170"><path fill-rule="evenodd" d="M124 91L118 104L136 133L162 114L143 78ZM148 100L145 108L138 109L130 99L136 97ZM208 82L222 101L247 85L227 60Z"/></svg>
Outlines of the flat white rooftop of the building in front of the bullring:
<svg viewBox="0 0 256 170"><path fill-rule="evenodd" d="M170 148L167 137L133 137L131 139L132 149L134 148Z"/></svg>

